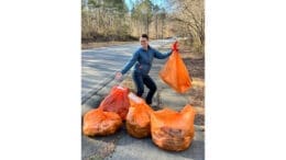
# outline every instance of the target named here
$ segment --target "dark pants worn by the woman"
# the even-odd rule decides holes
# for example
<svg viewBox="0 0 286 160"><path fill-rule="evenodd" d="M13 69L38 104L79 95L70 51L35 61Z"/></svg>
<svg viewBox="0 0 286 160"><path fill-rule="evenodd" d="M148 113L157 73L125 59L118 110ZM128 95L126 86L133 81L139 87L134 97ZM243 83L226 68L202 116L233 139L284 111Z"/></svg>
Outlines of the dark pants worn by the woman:
<svg viewBox="0 0 286 160"><path fill-rule="evenodd" d="M133 77L133 80L138 88L138 93L136 93L138 96L142 96L142 94L144 93L144 84L148 88L146 103L151 104L152 98L157 90L155 82L151 79L151 77L148 75L142 75L142 73L135 72L135 71L133 72L132 77Z"/></svg>

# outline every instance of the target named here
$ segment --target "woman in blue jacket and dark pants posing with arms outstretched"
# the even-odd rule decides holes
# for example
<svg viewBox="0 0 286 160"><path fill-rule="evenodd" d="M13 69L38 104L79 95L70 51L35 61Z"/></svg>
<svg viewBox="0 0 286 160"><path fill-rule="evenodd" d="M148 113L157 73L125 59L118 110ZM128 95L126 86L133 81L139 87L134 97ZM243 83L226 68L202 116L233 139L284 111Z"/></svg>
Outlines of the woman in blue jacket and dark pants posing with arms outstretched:
<svg viewBox="0 0 286 160"><path fill-rule="evenodd" d="M119 80L122 78L124 73L127 73L131 67L135 64L135 69L132 73L133 81L138 89L136 95L142 96L144 93L144 84L148 88L148 93L145 98L145 102L151 105L153 95L155 94L157 87L153 79L148 76L148 72L152 67L153 58L164 59L172 55L174 45L172 50L166 54L162 54L158 50L154 49L148 45L148 36L146 34L142 34L140 37L141 46L132 56L132 58L125 64L121 71L116 73L116 79ZM175 43L176 44L176 43Z"/></svg>

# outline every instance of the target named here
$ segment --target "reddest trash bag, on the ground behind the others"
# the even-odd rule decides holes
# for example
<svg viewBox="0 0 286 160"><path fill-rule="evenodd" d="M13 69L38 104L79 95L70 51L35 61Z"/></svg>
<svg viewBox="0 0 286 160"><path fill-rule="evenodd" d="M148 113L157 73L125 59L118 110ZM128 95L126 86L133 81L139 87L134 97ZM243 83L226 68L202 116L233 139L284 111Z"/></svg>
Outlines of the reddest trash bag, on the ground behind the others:
<svg viewBox="0 0 286 160"><path fill-rule="evenodd" d="M114 85L110 93L100 103L99 108L107 112L116 112L120 115L122 121L124 121L130 106L128 93L128 88Z"/></svg>

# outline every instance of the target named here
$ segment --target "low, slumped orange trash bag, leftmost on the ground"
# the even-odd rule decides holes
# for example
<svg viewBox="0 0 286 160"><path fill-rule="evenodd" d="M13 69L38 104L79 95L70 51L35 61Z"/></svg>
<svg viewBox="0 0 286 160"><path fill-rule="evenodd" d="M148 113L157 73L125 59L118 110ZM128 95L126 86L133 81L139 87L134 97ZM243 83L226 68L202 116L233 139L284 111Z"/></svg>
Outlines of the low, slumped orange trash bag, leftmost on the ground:
<svg viewBox="0 0 286 160"><path fill-rule="evenodd" d="M82 130L86 136L107 136L114 134L121 125L117 113L94 108L86 113Z"/></svg>

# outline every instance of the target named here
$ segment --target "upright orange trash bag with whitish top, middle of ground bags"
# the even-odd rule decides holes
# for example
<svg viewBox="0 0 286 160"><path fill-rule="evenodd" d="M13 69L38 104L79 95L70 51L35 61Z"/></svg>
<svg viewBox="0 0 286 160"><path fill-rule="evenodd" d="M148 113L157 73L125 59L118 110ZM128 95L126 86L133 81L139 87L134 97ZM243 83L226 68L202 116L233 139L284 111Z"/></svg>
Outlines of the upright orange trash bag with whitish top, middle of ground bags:
<svg viewBox="0 0 286 160"><path fill-rule="evenodd" d="M136 138L144 138L151 134L150 116L153 110L145 101L134 93L129 93L130 107L127 116L128 133Z"/></svg>

